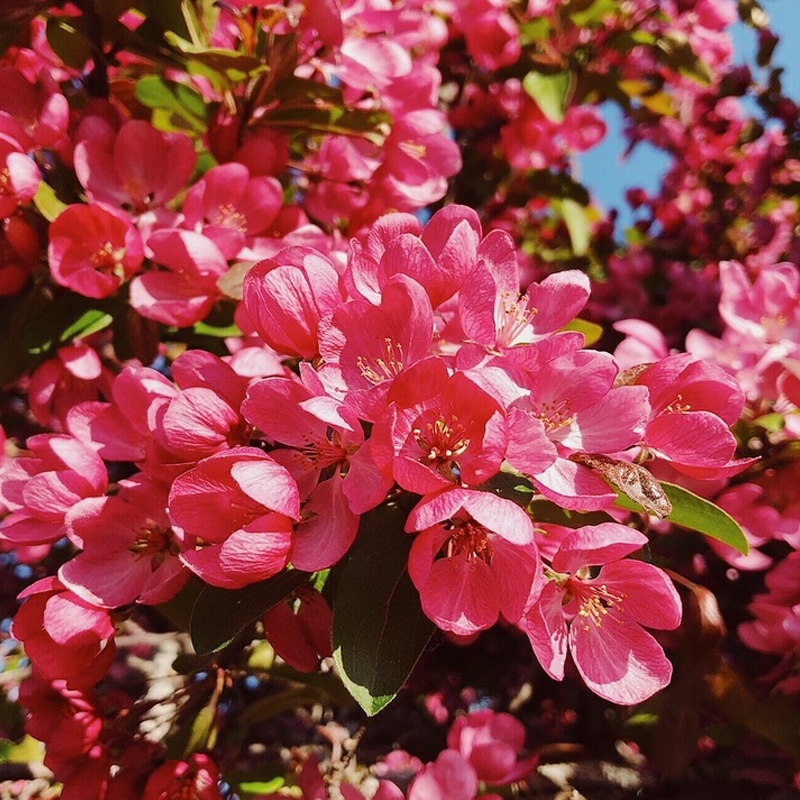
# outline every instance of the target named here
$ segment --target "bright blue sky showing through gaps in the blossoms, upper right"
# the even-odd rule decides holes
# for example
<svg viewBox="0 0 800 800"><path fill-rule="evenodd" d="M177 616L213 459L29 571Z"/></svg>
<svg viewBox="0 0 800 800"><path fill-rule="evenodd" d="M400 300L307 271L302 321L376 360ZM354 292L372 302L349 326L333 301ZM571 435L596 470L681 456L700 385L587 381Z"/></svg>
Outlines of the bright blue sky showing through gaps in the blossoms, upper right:
<svg viewBox="0 0 800 800"><path fill-rule="evenodd" d="M773 65L785 67L784 91L800 102L800 0L762 0L764 10L770 17L770 27L780 37L773 55ZM733 29L736 60L755 68L756 34L741 23ZM763 77L756 75L756 77ZM620 222L625 227L631 215L625 203L625 190L641 186L649 191L658 188L659 179L667 166L666 157L649 145L638 145L625 160L622 118L616 106L606 104L603 118L608 125L608 135L597 147L580 157L579 179L590 189L594 197L607 209L617 208L621 212Z"/></svg>

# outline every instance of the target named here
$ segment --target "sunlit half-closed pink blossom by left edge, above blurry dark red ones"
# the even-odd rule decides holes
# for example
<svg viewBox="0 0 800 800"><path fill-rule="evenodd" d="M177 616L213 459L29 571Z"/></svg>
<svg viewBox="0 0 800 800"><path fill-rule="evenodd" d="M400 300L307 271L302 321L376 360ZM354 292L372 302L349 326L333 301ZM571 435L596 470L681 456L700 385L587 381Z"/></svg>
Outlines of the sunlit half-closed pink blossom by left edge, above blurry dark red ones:
<svg viewBox="0 0 800 800"><path fill-rule="evenodd" d="M114 625L109 612L87 603L56 578L42 578L25 589L11 635L39 673L89 687L103 678L114 659Z"/></svg>

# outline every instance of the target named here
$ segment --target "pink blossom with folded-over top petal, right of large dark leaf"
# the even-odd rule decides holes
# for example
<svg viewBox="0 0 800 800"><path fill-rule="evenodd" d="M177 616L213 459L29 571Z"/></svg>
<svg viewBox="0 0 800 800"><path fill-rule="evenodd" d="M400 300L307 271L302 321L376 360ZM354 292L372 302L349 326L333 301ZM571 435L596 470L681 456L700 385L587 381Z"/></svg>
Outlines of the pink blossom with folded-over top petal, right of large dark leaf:
<svg viewBox="0 0 800 800"><path fill-rule="evenodd" d="M540 572L533 524L510 500L467 489L423 498L406 530L420 531L408 572L425 614L459 635L516 622Z"/></svg>

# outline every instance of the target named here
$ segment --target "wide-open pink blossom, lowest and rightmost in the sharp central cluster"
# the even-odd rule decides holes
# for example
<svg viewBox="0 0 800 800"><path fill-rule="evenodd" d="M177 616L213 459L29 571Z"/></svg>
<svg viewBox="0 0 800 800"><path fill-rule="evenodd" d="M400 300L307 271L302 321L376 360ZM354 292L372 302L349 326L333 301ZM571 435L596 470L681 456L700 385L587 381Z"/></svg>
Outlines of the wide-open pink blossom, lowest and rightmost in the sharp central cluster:
<svg viewBox="0 0 800 800"><path fill-rule="evenodd" d="M678 593L658 567L623 560L646 543L644 534L614 522L565 537L520 622L550 677L563 679L569 649L586 685L611 702L640 703L669 683L672 666L642 626L676 628Z"/></svg>

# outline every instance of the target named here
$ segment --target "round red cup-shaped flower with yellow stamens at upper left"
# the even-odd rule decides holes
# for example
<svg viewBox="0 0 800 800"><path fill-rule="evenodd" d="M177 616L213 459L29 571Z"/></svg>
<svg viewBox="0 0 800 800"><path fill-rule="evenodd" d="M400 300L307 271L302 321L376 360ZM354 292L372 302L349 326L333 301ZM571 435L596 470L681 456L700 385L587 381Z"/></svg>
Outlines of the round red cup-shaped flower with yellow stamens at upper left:
<svg viewBox="0 0 800 800"><path fill-rule="evenodd" d="M139 231L122 214L97 205L67 206L48 234L53 279L85 297L113 294L144 258Z"/></svg>

